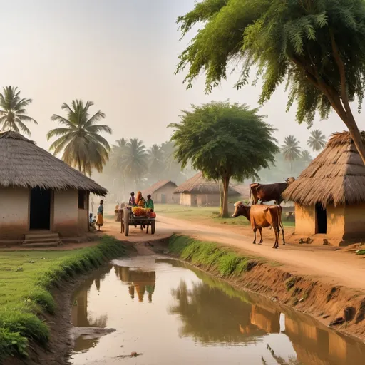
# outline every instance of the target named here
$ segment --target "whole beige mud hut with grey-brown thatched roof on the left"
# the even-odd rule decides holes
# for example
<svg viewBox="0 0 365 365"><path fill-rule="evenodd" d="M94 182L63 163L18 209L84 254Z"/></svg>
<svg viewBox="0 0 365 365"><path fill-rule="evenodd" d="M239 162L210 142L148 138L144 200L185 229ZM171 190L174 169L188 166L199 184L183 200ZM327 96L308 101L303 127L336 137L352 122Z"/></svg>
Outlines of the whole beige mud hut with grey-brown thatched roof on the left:
<svg viewBox="0 0 365 365"><path fill-rule="evenodd" d="M19 133L0 133L0 166L0 242L86 235L90 192L107 193Z"/></svg>

